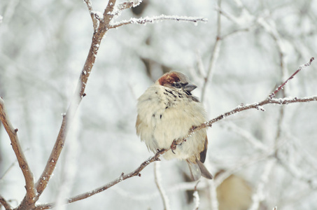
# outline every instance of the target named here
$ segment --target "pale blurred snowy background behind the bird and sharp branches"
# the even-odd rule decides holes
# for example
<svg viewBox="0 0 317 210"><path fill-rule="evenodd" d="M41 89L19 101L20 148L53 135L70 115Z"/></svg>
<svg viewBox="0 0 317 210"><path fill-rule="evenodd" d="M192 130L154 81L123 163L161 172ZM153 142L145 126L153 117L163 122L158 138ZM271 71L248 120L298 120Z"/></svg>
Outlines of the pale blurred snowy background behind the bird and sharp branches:
<svg viewBox="0 0 317 210"><path fill-rule="evenodd" d="M108 3L91 1L101 12ZM171 20L108 31L87 96L39 202L102 186L153 155L136 136L136 100L163 73L185 73L212 119L266 99L316 56L316 1L145 0L114 21L161 14L208 22ZM37 180L90 48L92 20L82 0L1 0L0 15L0 96ZM315 62L277 97L316 95ZM206 165L216 178L198 183L199 209L317 209L317 104L264 108L209 128ZM195 207L190 191L195 183L185 162L162 160L158 173L171 209ZM154 165L141 174L56 209L163 209ZM0 195L15 207L24 194L22 172L1 126Z"/></svg>

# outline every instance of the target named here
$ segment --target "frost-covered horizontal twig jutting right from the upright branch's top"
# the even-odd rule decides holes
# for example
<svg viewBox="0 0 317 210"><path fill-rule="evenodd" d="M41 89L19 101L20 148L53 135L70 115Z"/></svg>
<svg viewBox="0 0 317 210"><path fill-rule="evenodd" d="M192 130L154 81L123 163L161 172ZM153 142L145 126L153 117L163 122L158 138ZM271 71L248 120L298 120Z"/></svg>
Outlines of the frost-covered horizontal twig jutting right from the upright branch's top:
<svg viewBox="0 0 317 210"><path fill-rule="evenodd" d="M186 16L176 16L176 15L160 15L155 17L146 17L146 18L130 18L129 20L122 20L120 22L115 22L110 25L110 28L117 28L122 25L129 24L146 24L146 23L154 23L160 20L176 20L183 22L206 22L206 18L196 18L196 17L186 17Z"/></svg>

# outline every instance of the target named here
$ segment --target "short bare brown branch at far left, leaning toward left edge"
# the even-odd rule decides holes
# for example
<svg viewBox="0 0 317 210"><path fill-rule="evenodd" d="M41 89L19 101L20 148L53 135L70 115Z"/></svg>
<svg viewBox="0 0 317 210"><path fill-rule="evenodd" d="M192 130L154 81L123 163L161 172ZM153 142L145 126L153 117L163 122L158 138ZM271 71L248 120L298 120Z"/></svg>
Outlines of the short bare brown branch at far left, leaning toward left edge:
<svg viewBox="0 0 317 210"><path fill-rule="evenodd" d="M29 168L27 163L27 159L24 156L22 148L20 146L20 141L17 137L17 128L14 128L13 125L10 123L10 120L6 114L6 108L4 106L3 99L0 97L0 119L2 122L3 127L5 128L8 136L10 137L11 146L17 157L17 162L22 170L22 174L25 180L25 189L27 190L27 200L31 201L36 196L35 188L34 188L34 176ZM27 202L27 206L29 206L31 202Z"/></svg>

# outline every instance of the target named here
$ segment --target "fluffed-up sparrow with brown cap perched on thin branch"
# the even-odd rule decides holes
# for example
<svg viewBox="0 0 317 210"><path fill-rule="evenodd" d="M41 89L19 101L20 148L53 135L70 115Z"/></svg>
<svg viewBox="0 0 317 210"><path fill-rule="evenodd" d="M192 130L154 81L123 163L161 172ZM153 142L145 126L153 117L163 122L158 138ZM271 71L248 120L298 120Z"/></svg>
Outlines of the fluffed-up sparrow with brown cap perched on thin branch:
<svg viewBox="0 0 317 210"><path fill-rule="evenodd" d="M164 73L139 97L136 117L136 134L148 150L156 153L164 149L166 160L185 160L194 181L201 176L213 179L204 166L208 146L206 129L188 137L190 129L206 122L204 106L191 93L196 87L181 72ZM175 145L182 138L187 139Z"/></svg>

